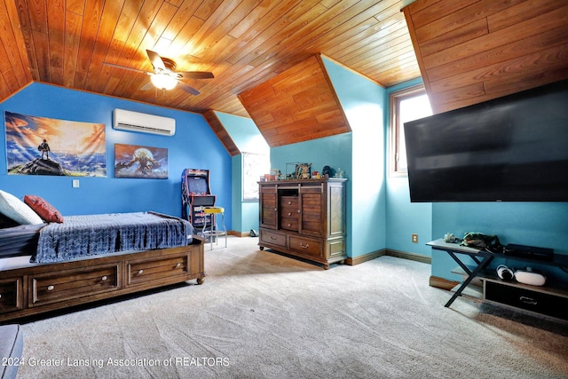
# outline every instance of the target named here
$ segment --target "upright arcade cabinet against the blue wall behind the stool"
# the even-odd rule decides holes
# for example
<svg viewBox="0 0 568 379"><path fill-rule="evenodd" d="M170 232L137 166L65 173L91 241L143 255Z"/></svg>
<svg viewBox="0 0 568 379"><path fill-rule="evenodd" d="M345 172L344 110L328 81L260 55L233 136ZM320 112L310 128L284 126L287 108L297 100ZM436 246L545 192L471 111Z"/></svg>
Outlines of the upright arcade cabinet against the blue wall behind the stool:
<svg viewBox="0 0 568 379"><path fill-rule="evenodd" d="M214 206L217 196L209 188L209 170L185 169L181 175L181 197L183 218L196 230L202 229L205 222L211 225L214 216L204 209Z"/></svg>

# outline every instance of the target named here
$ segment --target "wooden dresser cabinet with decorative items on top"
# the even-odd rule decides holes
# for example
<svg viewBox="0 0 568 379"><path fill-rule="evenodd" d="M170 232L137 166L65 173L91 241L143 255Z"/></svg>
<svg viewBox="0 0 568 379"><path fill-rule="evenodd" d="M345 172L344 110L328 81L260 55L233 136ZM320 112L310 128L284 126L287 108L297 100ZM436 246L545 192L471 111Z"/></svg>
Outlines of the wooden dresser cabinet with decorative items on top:
<svg viewBox="0 0 568 379"><path fill-rule="evenodd" d="M260 249L322 264L345 254L345 182L342 178L258 182Z"/></svg>

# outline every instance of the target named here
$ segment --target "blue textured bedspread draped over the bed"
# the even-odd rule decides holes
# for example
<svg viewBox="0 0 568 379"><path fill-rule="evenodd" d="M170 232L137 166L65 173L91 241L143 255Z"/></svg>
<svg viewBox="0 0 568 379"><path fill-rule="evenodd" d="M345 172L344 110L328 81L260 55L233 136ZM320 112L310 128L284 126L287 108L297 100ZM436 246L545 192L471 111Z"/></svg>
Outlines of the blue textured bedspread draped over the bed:
<svg viewBox="0 0 568 379"><path fill-rule="evenodd" d="M117 251L167 249L192 241L193 226L182 218L154 212L66 216L40 230L30 262L60 262Z"/></svg>

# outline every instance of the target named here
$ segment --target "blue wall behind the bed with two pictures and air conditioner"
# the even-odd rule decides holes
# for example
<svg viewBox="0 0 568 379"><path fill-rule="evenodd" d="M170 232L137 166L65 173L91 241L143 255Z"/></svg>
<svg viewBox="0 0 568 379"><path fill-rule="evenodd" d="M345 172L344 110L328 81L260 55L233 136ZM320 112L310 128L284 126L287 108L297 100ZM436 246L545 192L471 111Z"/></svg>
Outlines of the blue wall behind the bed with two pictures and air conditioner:
<svg viewBox="0 0 568 379"><path fill-rule="evenodd" d="M173 137L112 129L114 108L157 114L176 119ZM72 91L32 83L0 103L0 111L61 120L106 124L107 178L72 178L7 175L5 125L0 129L0 188L18 197L37 194L65 215L155 210L181 216L181 173L185 168L210 170L212 193L227 209L231 229L231 157L201 114L152 107L89 92ZM169 149L168 179L114 178L114 144L166 147Z"/></svg>

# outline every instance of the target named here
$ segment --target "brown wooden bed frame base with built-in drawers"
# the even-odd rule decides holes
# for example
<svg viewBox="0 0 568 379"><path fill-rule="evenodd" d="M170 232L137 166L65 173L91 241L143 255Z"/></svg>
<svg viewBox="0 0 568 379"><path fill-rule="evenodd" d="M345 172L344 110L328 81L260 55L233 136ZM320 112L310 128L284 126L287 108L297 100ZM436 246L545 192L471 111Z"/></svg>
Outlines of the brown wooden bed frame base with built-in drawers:
<svg viewBox="0 0 568 379"><path fill-rule="evenodd" d="M203 283L205 241L114 253L0 271L0 322L197 280Z"/></svg>

